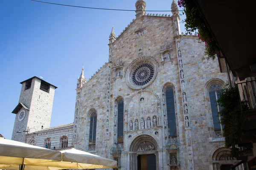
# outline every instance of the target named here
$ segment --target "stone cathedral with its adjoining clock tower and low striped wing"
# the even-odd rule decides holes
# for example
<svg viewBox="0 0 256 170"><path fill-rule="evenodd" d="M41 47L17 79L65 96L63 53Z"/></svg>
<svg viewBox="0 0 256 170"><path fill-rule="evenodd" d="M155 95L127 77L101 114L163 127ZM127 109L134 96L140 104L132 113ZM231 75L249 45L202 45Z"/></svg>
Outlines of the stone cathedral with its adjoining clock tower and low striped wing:
<svg viewBox="0 0 256 170"><path fill-rule="evenodd" d="M175 1L172 16L147 14L144 0L135 6L136 19L119 36L112 28L108 62L87 81L82 69L74 122L49 127L57 87L32 77L21 82L12 139L75 147L118 161L116 170L224 170L235 164L215 104L227 82L218 59L207 60L197 36L180 34Z"/></svg>

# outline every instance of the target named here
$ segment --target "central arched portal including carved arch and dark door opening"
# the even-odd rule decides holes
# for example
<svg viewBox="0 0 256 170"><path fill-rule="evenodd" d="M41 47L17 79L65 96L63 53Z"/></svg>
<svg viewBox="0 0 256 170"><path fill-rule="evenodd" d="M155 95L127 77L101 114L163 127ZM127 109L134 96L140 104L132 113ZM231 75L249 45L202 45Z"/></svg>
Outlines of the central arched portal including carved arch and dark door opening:
<svg viewBox="0 0 256 170"><path fill-rule="evenodd" d="M153 137L137 136L130 145L130 170L159 170L158 150Z"/></svg>

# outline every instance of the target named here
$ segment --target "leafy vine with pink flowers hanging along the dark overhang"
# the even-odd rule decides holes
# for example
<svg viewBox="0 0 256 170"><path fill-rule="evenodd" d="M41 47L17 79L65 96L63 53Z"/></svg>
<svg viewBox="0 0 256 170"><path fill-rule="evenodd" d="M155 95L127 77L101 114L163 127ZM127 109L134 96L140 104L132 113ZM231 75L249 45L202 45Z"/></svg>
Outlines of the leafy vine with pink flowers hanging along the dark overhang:
<svg viewBox="0 0 256 170"><path fill-rule="evenodd" d="M215 59L215 54L218 54L220 50L195 1L178 0L178 6L180 6L180 8L183 7L184 12L182 12L182 14L186 14L186 19L184 20L186 32L192 34L192 32L198 30L199 40L205 43L205 54L208 55L208 59Z"/></svg>

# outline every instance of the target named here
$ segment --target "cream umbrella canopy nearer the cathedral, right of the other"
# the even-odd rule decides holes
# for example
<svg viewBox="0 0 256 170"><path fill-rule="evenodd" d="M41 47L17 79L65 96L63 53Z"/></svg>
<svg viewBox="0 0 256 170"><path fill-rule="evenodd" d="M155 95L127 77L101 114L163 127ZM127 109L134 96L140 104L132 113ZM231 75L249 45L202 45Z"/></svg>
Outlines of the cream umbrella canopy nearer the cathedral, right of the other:
<svg viewBox="0 0 256 170"><path fill-rule="evenodd" d="M62 169L117 168L117 161L74 148L60 150L62 161L47 162L38 166L61 167ZM25 167L26 168L26 167ZM26 169L25 169L26 170Z"/></svg>

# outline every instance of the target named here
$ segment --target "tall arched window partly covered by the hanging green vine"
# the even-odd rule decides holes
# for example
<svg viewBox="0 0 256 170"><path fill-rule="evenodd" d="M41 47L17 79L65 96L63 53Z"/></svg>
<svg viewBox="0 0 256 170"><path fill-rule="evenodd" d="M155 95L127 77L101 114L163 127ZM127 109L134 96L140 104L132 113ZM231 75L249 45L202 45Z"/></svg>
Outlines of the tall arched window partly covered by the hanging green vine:
<svg viewBox="0 0 256 170"><path fill-rule="evenodd" d="M216 100L219 97L219 93L221 92L222 87L218 84L213 84L209 87L209 101L211 105L212 111L212 122L215 132L215 137L222 137L222 129L223 127L220 124L220 117L218 116L218 112L221 111L221 106L217 105Z"/></svg>

